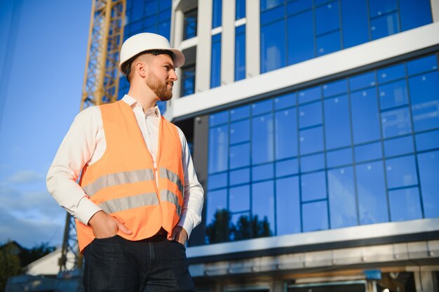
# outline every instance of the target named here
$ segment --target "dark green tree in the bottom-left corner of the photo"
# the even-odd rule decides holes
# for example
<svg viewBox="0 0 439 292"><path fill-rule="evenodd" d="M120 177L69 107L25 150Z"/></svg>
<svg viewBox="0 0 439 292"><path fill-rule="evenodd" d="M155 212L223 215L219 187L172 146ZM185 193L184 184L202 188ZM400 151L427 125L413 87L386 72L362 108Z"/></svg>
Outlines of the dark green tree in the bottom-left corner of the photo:
<svg viewBox="0 0 439 292"><path fill-rule="evenodd" d="M0 291L4 291L8 278L20 274L21 263L12 241L0 248Z"/></svg>

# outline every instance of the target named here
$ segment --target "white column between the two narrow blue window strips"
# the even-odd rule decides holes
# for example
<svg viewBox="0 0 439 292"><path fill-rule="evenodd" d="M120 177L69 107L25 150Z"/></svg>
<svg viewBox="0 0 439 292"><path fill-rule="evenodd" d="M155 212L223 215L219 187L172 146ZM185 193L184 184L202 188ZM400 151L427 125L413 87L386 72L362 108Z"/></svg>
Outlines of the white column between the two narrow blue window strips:
<svg viewBox="0 0 439 292"><path fill-rule="evenodd" d="M222 0L221 85L235 81L235 0Z"/></svg>

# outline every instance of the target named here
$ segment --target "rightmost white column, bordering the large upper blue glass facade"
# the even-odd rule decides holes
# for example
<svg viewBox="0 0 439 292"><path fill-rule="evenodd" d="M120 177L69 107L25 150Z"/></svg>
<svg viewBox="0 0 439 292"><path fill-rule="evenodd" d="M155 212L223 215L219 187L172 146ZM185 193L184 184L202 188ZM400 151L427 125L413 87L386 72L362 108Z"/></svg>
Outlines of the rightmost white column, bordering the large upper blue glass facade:
<svg viewBox="0 0 439 292"><path fill-rule="evenodd" d="M245 18L245 76L250 78L261 72L259 0L245 0Z"/></svg>

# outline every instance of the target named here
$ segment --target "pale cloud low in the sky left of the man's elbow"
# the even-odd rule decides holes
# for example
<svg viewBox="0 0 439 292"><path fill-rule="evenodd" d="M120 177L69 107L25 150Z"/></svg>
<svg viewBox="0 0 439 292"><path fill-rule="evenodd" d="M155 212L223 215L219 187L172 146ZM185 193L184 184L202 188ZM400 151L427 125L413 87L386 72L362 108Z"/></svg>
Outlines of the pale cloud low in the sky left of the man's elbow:
<svg viewBox="0 0 439 292"><path fill-rule="evenodd" d="M15 173L0 184L0 244L11 239L29 248L42 242L59 246L65 216L36 173Z"/></svg>

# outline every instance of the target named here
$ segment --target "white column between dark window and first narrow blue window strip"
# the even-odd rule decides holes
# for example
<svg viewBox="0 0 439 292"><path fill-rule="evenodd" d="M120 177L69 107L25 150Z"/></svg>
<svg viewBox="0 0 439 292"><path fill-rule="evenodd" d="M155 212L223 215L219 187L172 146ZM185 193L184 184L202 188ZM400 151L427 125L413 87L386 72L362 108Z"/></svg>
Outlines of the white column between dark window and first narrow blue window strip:
<svg viewBox="0 0 439 292"><path fill-rule="evenodd" d="M196 46L195 92L210 89L210 55L212 51L212 0L198 0L198 45Z"/></svg>

